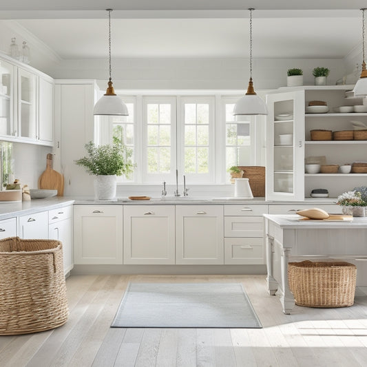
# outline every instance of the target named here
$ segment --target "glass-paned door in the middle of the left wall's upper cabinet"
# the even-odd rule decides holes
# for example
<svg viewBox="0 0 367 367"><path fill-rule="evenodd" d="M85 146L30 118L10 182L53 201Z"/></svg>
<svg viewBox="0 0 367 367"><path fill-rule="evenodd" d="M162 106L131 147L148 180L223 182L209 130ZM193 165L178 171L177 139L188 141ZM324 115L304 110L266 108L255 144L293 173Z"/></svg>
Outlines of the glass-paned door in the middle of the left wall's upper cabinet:
<svg viewBox="0 0 367 367"><path fill-rule="evenodd" d="M18 69L18 136L36 140L36 76Z"/></svg>

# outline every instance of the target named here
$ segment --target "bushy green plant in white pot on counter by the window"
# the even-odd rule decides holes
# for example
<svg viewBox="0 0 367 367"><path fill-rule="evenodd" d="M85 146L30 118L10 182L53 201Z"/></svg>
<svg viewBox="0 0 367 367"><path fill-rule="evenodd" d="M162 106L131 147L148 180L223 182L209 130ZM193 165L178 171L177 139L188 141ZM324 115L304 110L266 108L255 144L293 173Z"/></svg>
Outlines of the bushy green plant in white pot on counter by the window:
<svg viewBox="0 0 367 367"><path fill-rule="evenodd" d="M120 141L97 146L92 141L85 144L87 156L75 160L88 174L96 176L94 191L98 200L111 200L116 196L116 176L128 176L135 165L132 149Z"/></svg>

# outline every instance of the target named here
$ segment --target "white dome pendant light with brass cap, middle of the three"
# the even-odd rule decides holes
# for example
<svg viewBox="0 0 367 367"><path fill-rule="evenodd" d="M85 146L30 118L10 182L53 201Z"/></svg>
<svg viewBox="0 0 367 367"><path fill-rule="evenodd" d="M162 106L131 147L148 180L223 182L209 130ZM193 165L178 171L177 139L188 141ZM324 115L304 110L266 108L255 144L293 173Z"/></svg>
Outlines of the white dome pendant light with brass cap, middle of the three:
<svg viewBox="0 0 367 367"><path fill-rule="evenodd" d="M249 8L250 10L250 80L249 87L247 88L247 93L240 98L235 107L233 108L233 115L267 115L268 110L266 109L265 102L256 95L255 90L253 89L253 81L252 81L252 11L253 8Z"/></svg>

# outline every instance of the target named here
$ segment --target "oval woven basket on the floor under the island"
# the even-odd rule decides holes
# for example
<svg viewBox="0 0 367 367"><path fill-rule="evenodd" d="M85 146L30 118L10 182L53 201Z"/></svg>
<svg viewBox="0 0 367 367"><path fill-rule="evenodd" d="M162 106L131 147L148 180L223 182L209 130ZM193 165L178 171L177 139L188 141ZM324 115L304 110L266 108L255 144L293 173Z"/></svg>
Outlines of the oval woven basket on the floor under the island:
<svg viewBox="0 0 367 367"><path fill-rule="evenodd" d="M307 307L352 306L357 268L348 262L289 262L289 289L295 304Z"/></svg>

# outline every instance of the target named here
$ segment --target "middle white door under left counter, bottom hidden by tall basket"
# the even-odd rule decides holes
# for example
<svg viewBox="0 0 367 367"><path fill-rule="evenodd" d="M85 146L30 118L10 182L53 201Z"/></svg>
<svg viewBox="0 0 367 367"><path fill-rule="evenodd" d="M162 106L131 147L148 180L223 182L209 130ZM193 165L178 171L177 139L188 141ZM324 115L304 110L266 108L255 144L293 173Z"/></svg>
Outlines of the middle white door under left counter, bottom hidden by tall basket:
<svg viewBox="0 0 367 367"><path fill-rule="evenodd" d="M19 237L48 240L48 211L19 217Z"/></svg>

